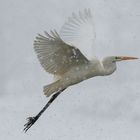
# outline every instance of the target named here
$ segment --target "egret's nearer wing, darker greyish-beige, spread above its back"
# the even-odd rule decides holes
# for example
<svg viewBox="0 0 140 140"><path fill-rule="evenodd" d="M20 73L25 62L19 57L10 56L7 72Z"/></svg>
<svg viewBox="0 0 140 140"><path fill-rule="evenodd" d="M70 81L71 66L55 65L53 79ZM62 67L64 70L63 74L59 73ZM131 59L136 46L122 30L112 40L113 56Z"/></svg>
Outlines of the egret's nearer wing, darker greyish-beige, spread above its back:
<svg viewBox="0 0 140 140"><path fill-rule="evenodd" d="M55 75L89 62L79 49L66 44L56 31L51 31L51 34L45 32L45 36L39 34L34 41L34 49L44 69Z"/></svg>

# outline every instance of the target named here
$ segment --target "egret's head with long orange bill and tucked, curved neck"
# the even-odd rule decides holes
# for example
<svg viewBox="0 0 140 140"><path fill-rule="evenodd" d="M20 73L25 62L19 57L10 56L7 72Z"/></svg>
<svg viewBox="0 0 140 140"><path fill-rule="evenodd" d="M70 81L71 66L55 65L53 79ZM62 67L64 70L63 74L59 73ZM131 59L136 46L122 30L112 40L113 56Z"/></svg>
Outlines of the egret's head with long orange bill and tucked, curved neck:
<svg viewBox="0 0 140 140"><path fill-rule="evenodd" d="M104 75L112 74L116 70L116 62L123 60L135 60L137 57L130 56L108 56L102 60L104 66Z"/></svg>

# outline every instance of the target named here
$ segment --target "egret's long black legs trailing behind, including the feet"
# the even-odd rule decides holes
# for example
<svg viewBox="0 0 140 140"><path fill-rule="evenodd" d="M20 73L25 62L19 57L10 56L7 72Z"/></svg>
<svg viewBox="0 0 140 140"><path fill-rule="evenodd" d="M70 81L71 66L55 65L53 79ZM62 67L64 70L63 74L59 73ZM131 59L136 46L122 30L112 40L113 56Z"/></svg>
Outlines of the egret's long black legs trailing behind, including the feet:
<svg viewBox="0 0 140 140"><path fill-rule="evenodd" d="M55 93L51 99L47 102L47 104L42 108L42 110L35 117L28 117L27 123L24 125L23 131L27 132L27 130L39 119L39 117L43 114L43 112L50 106L50 104L56 99L56 97L63 92L65 89L58 91Z"/></svg>

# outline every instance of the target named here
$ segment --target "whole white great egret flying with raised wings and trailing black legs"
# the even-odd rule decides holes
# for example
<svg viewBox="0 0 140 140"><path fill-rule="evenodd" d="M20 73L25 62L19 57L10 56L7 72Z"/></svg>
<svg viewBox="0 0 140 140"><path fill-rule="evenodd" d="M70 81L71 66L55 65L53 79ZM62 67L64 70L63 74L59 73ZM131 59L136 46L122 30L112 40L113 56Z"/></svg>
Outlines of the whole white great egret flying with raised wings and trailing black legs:
<svg viewBox="0 0 140 140"><path fill-rule="evenodd" d="M56 81L44 86L44 94L47 97L53 95L35 117L28 118L28 122L24 125L25 132L38 120L54 99L69 86L94 76L112 74L116 70L116 62L118 61L137 59L136 57L127 56L108 56L103 60L93 58L90 61L75 46L78 46L79 41L82 42L85 39L80 36L81 34L86 34L86 41L95 38L93 27L91 12L89 9L85 9L84 12L79 12L77 15L72 14L62 26L60 35L67 42L63 41L55 30L51 31L50 34L45 32L45 36L39 34L36 37L34 49L38 59L47 72L55 75ZM77 41L74 44L72 41L76 39Z"/></svg>

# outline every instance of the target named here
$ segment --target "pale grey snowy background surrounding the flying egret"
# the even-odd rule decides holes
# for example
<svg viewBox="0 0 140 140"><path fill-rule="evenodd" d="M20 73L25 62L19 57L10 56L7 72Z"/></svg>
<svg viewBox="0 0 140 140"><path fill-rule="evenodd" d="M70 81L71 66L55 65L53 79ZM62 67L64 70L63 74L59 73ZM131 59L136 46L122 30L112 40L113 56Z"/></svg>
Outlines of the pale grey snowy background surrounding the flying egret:
<svg viewBox="0 0 140 140"><path fill-rule="evenodd" d="M37 33L60 30L71 13L94 11L98 56L140 57L139 0L0 0L0 139L139 140L140 61L121 62L108 77L68 88L28 133L25 118L48 99L52 76L33 51Z"/></svg>

